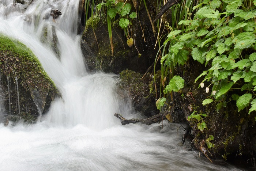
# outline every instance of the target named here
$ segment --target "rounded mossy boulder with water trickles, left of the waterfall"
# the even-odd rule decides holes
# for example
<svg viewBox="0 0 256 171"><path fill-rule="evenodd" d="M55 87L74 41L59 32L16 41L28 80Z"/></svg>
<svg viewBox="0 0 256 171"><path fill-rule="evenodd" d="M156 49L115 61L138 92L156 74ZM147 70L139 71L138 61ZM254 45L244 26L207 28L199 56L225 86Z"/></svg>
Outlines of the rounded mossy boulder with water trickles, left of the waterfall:
<svg viewBox="0 0 256 171"><path fill-rule="evenodd" d="M58 90L38 58L23 43L0 35L1 96L6 115L45 113ZM10 103L9 103L10 102ZM25 119L32 121L30 119ZM24 119L24 118L23 118Z"/></svg>

